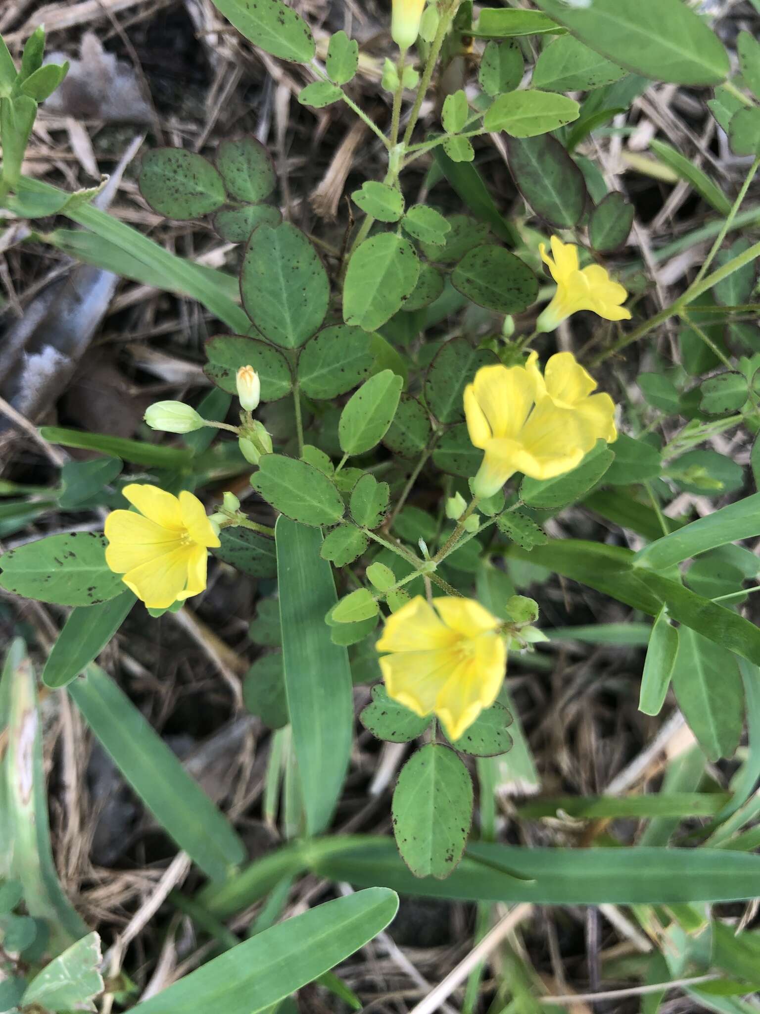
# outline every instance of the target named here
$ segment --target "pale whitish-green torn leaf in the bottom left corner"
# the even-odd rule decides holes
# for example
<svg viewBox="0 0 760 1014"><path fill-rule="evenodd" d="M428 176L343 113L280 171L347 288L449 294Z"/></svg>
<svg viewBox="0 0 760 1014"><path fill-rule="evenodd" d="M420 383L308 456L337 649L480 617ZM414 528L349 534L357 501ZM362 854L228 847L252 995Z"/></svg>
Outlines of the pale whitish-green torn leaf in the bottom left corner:
<svg viewBox="0 0 760 1014"><path fill-rule="evenodd" d="M94 1010L90 1001L103 991L100 961L100 937L88 933L34 975L21 1002L50 1011Z"/></svg>

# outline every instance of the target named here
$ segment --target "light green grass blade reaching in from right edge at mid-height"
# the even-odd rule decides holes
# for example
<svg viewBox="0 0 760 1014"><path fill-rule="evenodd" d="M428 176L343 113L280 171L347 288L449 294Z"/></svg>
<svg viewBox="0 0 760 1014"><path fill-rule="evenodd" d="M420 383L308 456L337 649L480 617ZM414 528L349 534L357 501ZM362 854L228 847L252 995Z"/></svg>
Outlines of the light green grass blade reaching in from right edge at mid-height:
<svg viewBox="0 0 760 1014"><path fill-rule="evenodd" d="M633 557L633 566L666 571L699 553L757 535L760 535L760 493L753 493L644 546Z"/></svg>

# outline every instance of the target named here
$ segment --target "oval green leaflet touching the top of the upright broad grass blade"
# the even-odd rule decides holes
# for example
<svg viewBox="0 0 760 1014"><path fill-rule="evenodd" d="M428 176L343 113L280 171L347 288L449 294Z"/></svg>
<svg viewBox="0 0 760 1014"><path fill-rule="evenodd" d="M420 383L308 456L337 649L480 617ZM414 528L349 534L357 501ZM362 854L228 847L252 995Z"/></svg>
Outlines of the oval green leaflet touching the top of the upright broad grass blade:
<svg viewBox="0 0 760 1014"><path fill-rule="evenodd" d="M344 516L344 502L334 484L306 461L263 454L250 485L275 510L302 524L334 524Z"/></svg>

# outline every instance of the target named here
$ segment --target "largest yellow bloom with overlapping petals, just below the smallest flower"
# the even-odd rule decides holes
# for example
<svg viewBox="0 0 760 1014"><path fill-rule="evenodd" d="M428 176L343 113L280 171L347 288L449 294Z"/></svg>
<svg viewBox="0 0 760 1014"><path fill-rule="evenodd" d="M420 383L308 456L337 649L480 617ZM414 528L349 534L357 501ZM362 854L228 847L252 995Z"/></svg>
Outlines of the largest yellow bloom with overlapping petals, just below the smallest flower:
<svg viewBox="0 0 760 1014"><path fill-rule="evenodd" d="M516 472L553 479L575 468L597 440L617 439L609 394L569 352L551 356L543 376L532 352L525 366L483 366L464 389L467 430L485 451L472 491L492 496Z"/></svg>

